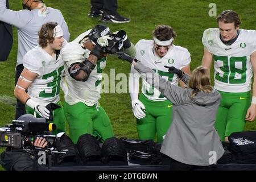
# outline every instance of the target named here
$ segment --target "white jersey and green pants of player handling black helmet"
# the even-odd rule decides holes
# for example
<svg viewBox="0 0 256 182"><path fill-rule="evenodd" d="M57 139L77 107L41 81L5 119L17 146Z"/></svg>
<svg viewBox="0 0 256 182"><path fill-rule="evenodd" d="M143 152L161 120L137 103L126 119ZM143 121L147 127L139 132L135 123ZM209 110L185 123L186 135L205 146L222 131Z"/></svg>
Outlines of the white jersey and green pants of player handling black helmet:
<svg viewBox="0 0 256 182"><path fill-rule="evenodd" d="M69 123L70 137L74 143L82 134L93 134L97 131L103 139L113 137L113 128L110 119L100 100L102 69L106 67L106 57L97 61L88 80L77 81L68 74L68 68L73 63L81 63L89 56L90 51L81 46L81 41L88 37L90 30L84 32L72 42L68 43L63 50L65 83L64 111Z"/></svg>

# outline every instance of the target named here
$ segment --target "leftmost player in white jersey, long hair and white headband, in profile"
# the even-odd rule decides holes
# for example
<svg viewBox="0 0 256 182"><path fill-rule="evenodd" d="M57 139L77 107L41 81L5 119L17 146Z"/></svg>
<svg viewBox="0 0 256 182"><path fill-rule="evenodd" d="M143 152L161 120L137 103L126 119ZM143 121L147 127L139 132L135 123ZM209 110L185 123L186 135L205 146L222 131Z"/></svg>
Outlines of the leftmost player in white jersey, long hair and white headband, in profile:
<svg viewBox="0 0 256 182"><path fill-rule="evenodd" d="M39 33L39 46L24 55L24 70L14 89L15 97L26 104L27 113L51 119L50 103L60 104L60 82L63 73L62 48L67 41L57 23L43 24ZM27 89L27 93L26 93ZM47 109L48 108L48 109ZM39 115L38 115L39 114ZM53 134L65 131L63 107L53 111Z"/></svg>

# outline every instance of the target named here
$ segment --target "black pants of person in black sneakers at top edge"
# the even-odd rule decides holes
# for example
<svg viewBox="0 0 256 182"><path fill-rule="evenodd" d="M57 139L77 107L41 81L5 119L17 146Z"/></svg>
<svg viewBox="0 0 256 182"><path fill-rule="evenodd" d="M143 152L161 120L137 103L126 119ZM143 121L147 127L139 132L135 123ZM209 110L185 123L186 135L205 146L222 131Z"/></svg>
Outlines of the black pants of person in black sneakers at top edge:
<svg viewBox="0 0 256 182"><path fill-rule="evenodd" d="M117 14L117 0L90 0L90 4L92 5L91 11L103 9L107 14Z"/></svg>

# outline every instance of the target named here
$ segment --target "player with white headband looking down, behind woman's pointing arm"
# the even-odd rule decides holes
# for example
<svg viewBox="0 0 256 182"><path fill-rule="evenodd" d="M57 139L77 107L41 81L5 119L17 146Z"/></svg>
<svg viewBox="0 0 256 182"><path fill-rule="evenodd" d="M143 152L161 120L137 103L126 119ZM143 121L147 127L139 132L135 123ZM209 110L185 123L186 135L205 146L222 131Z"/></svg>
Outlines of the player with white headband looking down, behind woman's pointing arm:
<svg viewBox="0 0 256 182"><path fill-rule="evenodd" d="M190 53L186 48L173 44L176 34L170 26L159 25L153 32L153 40L139 40L135 45L136 58L160 76L178 85L178 77L169 73L167 66L174 66L190 75ZM184 86L183 82L180 82ZM137 131L140 139L162 142L172 120L172 103L159 90L143 80L142 94L139 93L139 76L133 65L129 77L129 93L134 116L137 118Z"/></svg>

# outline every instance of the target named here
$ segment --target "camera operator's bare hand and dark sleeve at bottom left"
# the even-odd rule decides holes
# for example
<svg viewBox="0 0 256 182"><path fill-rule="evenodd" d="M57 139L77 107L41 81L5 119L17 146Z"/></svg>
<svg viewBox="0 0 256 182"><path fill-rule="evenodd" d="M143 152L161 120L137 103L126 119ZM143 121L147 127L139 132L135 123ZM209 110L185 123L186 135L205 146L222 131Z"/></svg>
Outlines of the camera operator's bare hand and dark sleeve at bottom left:
<svg viewBox="0 0 256 182"><path fill-rule="evenodd" d="M45 138L36 138L31 142L35 147L45 148L48 144ZM39 156L35 154L28 154L22 148L15 149L7 147L6 151L2 152L0 156L0 164L7 171L39 171L45 170L45 164L38 163Z"/></svg>

